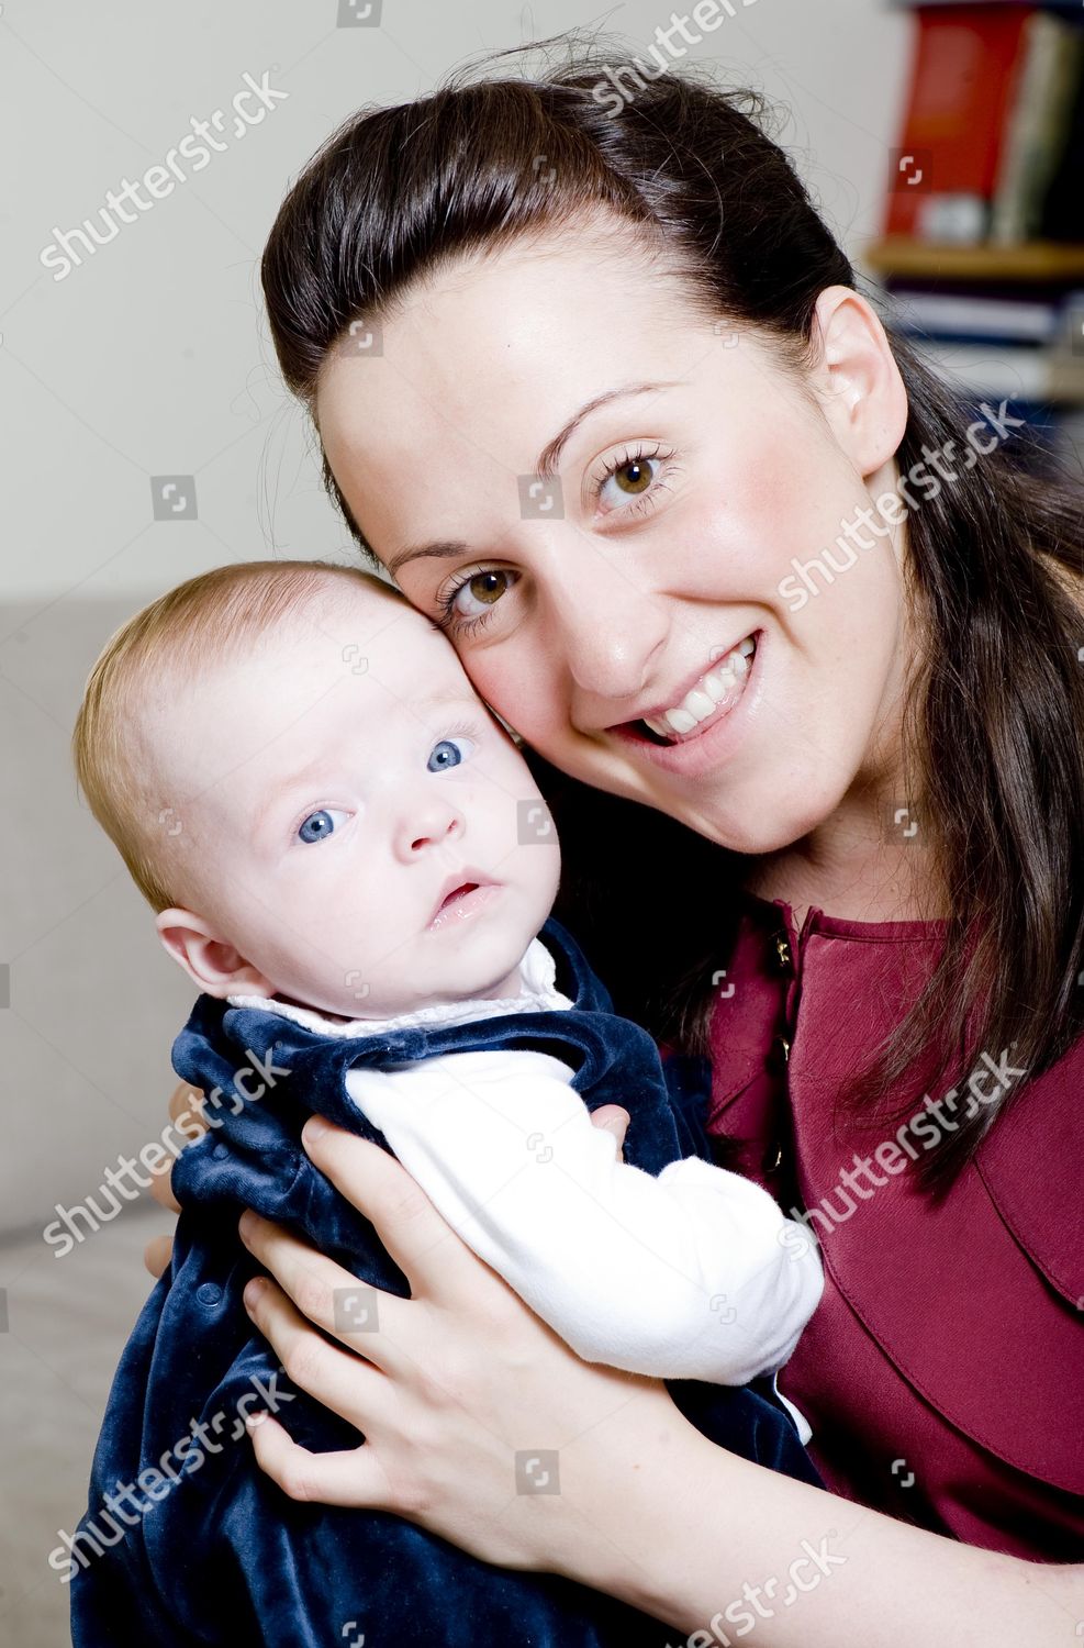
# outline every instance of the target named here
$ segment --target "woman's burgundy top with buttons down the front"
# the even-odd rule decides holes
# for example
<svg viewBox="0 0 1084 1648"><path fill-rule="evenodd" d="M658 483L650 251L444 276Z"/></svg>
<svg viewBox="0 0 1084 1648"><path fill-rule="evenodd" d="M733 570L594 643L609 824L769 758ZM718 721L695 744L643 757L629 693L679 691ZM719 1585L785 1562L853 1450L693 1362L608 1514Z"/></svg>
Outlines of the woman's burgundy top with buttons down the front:
<svg viewBox="0 0 1084 1648"><path fill-rule="evenodd" d="M944 925L814 908L799 934L783 900L743 893L740 911L708 1129L740 1140L728 1165L784 1211L819 1213L824 1299L778 1381L812 1426L817 1468L834 1493L967 1544L1081 1561L1084 1042L1010 1099L932 1203L911 1160L936 1135L927 1117L904 1150L898 1122L842 1122L835 1137L832 1111L929 976ZM903 1116L924 1098L901 1091ZM881 1140L895 1150L875 1155Z"/></svg>

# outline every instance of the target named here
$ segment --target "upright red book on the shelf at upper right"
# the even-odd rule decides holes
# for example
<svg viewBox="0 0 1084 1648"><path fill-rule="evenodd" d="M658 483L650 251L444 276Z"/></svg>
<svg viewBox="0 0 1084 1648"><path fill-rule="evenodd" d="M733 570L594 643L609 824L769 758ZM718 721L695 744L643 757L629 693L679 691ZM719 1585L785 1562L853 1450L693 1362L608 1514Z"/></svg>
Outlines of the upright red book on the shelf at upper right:
<svg viewBox="0 0 1084 1648"><path fill-rule="evenodd" d="M906 117L888 180L888 234L987 236L1033 5L937 5L918 13Z"/></svg>

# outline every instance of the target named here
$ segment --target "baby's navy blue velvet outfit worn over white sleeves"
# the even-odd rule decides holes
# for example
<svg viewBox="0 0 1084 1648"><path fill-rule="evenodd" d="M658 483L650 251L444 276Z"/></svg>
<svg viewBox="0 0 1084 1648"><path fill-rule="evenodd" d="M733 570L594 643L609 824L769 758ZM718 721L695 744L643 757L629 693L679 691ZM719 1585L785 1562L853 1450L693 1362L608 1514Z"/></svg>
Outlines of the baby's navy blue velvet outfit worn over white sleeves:
<svg viewBox="0 0 1084 1648"><path fill-rule="evenodd" d="M221 1096L208 1107L214 1126L175 1165L183 1213L173 1261L140 1313L109 1398L72 1556L79 1564L71 1579L76 1648L331 1648L356 1643L362 1633L367 1645L463 1648L506 1641L662 1648L680 1638L601 1592L549 1574L491 1567L395 1516L298 1505L257 1468L239 1419L245 1398L257 1411L270 1396L280 1402L285 1427L310 1449L361 1440L290 1386L254 1330L241 1292L259 1266L237 1234L242 1206L290 1228L362 1282L409 1292L372 1224L300 1145L301 1126L318 1111L387 1147L344 1091L351 1065L540 1048L577 1066L573 1086L590 1109L619 1103L631 1112L628 1162L659 1173L685 1155L710 1159L702 1129L707 1061L669 1056L662 1063L651 1037L614 1015L568 931L550 920L540 938L557 962L557 989L575 1012L331 1038L265 1010L208 995L196 1002L173 1063L193 1086L217 1088ZM257 1094L259 1081L262 1096L245 1098L236 1084L245 1070L241 1088ZM364 1333L357 1346L364 1350ZM768 1379L756 1381L756 1389L695 1381L672 1381L669 1389L722 1447L820 1485ZM539 1437L539 1449L552 1440ZM102 1501L110 1490L112 1516ZM682 1491L680 1483L674 1491ZM712 1516L710 1505L703 1516Z"/></svg>

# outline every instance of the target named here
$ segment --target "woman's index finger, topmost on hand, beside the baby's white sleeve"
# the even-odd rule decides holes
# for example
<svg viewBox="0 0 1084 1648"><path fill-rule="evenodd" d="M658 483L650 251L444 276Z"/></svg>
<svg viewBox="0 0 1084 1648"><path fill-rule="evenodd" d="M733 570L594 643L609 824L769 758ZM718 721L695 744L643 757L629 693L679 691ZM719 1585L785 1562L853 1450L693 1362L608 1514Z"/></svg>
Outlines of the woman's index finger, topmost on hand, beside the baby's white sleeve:
<svg viewBox="0 0 1084 1648"><path fill-rule="evenodd" d="M466 1297L478 1305L479 1269L488 1276L493 1271L471 1252L394 1155L316 1116L301 1129L301 1144L320 1172L376 1226L410 1282L414 1299L453 1304Z"/></svg>

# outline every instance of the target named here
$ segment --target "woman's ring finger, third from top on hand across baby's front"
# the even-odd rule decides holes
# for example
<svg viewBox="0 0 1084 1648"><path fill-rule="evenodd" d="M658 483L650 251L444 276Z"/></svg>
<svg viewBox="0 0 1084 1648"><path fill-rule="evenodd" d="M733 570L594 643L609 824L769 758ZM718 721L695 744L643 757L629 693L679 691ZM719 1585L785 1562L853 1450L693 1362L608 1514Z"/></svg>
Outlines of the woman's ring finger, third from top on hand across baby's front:
<svg viewBox="0 0 1084 1648"><path fill-rule="evenodd" d="M389 1401L385 1376L369 1361L329 1345L315 1333L293 1302L267 1277L249 1282L244 1305L278 1356L290 1383L308 1391L361 1432L367 1432L374 1416ZM376 1338L376 1335L364 1337Z"/></svg>

